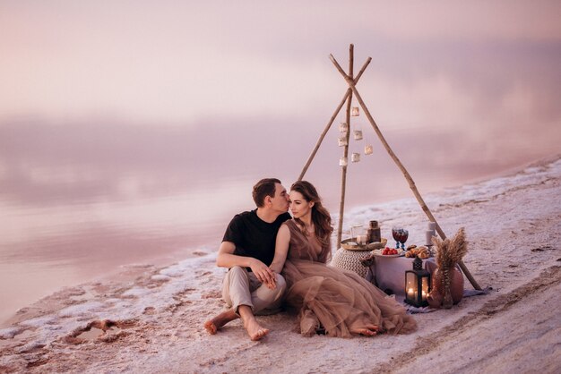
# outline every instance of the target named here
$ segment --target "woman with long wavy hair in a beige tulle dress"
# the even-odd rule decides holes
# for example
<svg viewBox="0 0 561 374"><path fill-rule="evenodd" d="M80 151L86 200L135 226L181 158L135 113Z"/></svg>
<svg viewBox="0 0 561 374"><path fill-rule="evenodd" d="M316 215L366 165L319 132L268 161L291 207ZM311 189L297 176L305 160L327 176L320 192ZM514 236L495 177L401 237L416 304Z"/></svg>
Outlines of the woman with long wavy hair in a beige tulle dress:
<svg viewBox="0 0 561 374"><path fill-rule="evenodd" d="M292 184L293 219L280 226L273 271L288 285L286 302L298 310L300 333L329 336L375 336L407 333L417 327L405 308L353 272L326 266L331 259L331 216L315 187Z"/></svg>

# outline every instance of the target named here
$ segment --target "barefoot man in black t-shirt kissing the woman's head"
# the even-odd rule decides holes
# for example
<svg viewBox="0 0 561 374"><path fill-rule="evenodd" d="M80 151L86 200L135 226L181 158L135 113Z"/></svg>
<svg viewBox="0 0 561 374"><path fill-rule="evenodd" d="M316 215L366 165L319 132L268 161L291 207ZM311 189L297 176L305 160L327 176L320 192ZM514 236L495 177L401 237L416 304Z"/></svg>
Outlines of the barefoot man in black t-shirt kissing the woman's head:
<svg viewBox="0 0 561 374"><path fill-rule="evenodd" d="M266 178L254 186L255 210L236 215L220 244L216 265L229 268L222 297L230 309L204 323L210 334L229 321L241 318L251 340L269 333L255 315L279 310L286 288L284 278L269 266L280 225L290 219L289 195L278 179Z"/></svg>

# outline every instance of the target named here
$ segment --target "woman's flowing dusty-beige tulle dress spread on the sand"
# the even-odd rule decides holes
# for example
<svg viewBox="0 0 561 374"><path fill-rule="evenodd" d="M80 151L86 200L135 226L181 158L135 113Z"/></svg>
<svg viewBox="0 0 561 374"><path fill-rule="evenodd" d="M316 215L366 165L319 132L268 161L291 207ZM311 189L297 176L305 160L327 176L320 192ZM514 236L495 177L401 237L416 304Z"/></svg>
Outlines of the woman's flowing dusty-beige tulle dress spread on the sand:
<svg viewBox="0 0 561 374"><path fill-rule="evenodd" d="M293 220L289 253L282 270L288 284L286 302L298 311L299 332L324 327L328 336L350 337L353 329L376 325L382 332L405 334L417 328L412 316L393 298L357 274L326 265L330 246L303 234Z"/></svg>

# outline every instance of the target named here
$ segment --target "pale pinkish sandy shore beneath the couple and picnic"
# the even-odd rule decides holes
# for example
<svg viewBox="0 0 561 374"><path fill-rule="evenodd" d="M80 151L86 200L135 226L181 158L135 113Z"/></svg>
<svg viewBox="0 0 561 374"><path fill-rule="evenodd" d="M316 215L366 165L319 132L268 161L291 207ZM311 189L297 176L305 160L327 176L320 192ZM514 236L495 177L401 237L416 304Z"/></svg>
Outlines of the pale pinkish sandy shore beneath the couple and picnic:
<svg viewBox="0 0 561 374"><path fill-rule="evenodd" d="M422 191L421 191L422 193ZM464 262L485 295L416 314L407 336L299 336L287 313L260 317L251 342L240 321L207 334L220 312L215 253L129 278L73 285L19 310L0 329L0 372L542 372L561 370L561 159L425 197L444 232L465 227ZM427 218L414 199L354 209L345 225L377 218L420 242ZM416 234L417 233L417 234ZM466 288L470 288L466 280Z"/></svg>

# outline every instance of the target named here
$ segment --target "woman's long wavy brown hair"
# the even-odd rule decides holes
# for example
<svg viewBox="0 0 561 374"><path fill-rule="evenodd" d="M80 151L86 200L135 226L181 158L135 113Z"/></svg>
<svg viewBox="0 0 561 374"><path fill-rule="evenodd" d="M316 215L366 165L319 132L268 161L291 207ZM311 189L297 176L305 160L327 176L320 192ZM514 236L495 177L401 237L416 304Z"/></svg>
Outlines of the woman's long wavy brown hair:
<svg viewBox="0 0 561 374"><path fill-rule="evenodd" d="M298 181L290 187L290 191L297 191L304 197L304 200L314 202L312 207L312 222L315 226L315 237L322 244L322 247L329 246L331 234L333 232L332 217L329 211L322 205L322 199L319 197L312 183L307 181ZM307 234L306 225L298 218L295 219L302 227L302 232Z"/></svg>

